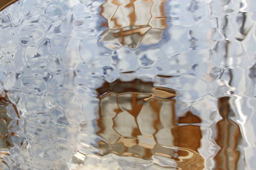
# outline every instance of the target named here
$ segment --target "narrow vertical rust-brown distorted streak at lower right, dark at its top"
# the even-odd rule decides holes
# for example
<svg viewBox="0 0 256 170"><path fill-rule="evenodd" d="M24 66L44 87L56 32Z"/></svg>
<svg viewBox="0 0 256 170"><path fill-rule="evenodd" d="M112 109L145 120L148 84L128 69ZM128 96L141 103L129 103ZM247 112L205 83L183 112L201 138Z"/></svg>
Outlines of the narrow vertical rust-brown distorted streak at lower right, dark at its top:
<svg viewBox="0 0 256 170"><path fill-rule="evenodd" d="M237 146L242 140L239 125L230 120L230 97L221 97L218 101L220 115L223 118L216 124L217 137L216 143L220 146L219 152L214 157L216 161L216 169L220 170L236 170L239 160L240 151Z"/></svg>

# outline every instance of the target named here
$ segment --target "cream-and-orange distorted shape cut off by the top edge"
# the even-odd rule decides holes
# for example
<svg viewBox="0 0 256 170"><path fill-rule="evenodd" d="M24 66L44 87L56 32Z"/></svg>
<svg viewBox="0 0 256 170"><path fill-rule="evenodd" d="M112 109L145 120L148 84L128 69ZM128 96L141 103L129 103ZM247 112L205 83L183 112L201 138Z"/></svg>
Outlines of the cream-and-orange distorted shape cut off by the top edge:
<svg viewBox="0 0 256 170"><path fill-rule="evenodd" d="M108 29L101 35L101 41L111 50L158 43L167 27L165 1L106 0L100 15L106 18Z"/></svg>

